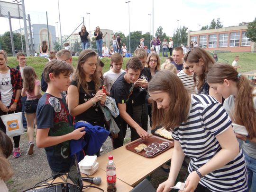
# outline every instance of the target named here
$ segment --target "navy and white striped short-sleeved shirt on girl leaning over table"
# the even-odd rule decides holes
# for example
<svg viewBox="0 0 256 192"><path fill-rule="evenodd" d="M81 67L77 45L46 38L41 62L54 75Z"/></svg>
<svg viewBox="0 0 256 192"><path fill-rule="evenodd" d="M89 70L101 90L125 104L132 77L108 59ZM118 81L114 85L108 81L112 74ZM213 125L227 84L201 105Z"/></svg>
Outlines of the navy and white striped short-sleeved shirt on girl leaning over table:
<svg viewBox="0 0 256 192"><path fill-rule="evenodd" d="M231 120L217 100L209 95L191 95L188 119L173 131L173 138L180 142L184 154L191 159L189 173L206 164L221 150L216 136L230 126ZM212 192L244 192L247 180L247 167L240 148L232 161L204 175L199 183Z"/></svg>

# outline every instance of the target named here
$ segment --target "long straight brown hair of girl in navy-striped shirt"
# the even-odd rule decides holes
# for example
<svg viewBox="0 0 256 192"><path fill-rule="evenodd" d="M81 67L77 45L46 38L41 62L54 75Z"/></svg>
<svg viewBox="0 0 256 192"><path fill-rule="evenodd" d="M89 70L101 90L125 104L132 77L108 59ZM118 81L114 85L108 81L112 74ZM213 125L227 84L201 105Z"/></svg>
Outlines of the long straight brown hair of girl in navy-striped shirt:
<svg viewBox="0 0 256 192"><path fill-rule="evenodd" d="M176 74L168 70L159 71L148 83L148 92L149 94L166 92L170 97L168 109L157 109L157 104L153 101L152 129L157 125L163 125L168 131L174 130L175 127L187 120L190 95Z"/></svg>

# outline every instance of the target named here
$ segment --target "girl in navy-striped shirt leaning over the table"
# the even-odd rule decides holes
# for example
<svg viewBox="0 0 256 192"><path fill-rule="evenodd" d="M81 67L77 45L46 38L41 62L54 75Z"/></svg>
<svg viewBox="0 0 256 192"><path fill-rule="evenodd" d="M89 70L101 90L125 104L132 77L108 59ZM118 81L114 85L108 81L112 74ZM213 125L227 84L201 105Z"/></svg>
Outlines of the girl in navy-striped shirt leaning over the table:
<svg viewBox="0 0 256 192"><path fill-rule="evenodd" d="M209 95L189 94L167 70L152 78L148 92L154 100L152 128L163 125L174 138L169 177L157 192L174 186L185 156L191 161L183 192L245 192L246 163L220 103Z"/></svg>

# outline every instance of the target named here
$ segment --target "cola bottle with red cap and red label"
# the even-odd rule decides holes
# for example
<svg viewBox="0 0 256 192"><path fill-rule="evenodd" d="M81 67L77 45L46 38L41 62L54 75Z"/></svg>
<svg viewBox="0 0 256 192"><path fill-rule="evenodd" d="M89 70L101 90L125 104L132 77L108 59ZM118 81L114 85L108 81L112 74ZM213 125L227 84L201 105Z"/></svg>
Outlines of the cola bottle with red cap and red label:
<svg viewBox="0 0 256 192"><path fill-rule="evenodd" d="M113 156L109 156L109 163L107 165L107 192L116 192L116 181L117 181L117 174L116 174L116 166L113 161Z"/></svg>

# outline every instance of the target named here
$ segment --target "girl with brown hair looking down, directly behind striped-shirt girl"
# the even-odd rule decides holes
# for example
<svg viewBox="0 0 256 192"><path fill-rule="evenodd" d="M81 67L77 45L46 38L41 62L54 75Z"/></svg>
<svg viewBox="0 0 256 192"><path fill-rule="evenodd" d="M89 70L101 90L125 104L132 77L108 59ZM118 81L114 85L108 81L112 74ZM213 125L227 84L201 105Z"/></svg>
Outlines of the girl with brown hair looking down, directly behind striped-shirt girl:
<svg viewBox="0 0 256 192"><path fill-rule="evenodd" d="M194 82L198 93L210 95L222 103L222 97L218 93L216 94L206 82L206 75L215 63L215 60L210 54L199 47L195 47L187 52L184 61L194 72ZM197 82L196 76L198 78Z"/></svg>

